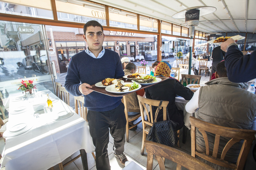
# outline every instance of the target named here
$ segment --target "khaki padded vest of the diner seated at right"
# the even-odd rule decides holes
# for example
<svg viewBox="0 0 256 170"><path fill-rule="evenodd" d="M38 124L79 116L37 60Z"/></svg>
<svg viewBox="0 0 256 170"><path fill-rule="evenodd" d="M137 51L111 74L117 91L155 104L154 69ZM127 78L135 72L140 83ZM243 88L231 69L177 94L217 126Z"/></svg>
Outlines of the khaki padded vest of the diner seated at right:
<svg viewBox="0 0 256 170"><path fill-rule="evenodd" d="M233 83L227 77L210 80L199 91L195 117L202 121L240 129L251 129L256 115L256 95L244 90L245 83ZM213 151L215 135L207 133L209 149ZM218 156L230 138L220 137ZM224 160L236 162L243 141L234 144L227 152ZM196 131L197 150L205 151L202 134Z"/></svg>

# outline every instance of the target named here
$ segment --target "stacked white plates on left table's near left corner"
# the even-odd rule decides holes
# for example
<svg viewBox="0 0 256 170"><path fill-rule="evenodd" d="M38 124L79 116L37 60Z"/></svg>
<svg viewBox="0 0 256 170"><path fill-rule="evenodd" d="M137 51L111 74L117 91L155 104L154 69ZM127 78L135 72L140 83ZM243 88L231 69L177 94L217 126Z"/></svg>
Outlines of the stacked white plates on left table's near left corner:
<svg viewBox="0 0 256 170"><path fill-rule="evenodd" d="M26 123L20 123L18 125L15 125L11 127L10 129L6 130L3 133L4 137L12 137L12 136L17 136L19 134L25 133L29 129L31 129L33 125L27 125Z"/></svg>

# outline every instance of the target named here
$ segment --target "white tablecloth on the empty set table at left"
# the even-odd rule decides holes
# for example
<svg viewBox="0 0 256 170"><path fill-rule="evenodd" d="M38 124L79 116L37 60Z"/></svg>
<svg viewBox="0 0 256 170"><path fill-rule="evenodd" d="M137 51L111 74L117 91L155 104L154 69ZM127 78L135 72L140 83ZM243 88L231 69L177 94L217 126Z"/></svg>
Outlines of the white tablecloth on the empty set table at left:
<svg viewBox="0 0 256 170"><path fill-rule="evenodd" d="M53 93L49 93L49 96L57 98ZM37 111L35 113L40 113L40 116L34 118L32 104L39 102L40 105L45 105L46 95L42 98L32 98L32 103L29 103L31 100L13 102L14 98L10 98L7 130L23 122L33 124L33 127L23 134L6 138L2 163L6 170L49 169L80 149L85 149L87 153L94 151L88 123L79 115L74 113L68 119L58 121L52 119L61 111L74 112L60 99L53 101L51 113ZM14 109L20 106L27 106L28 111L12 114Z"/></svg>

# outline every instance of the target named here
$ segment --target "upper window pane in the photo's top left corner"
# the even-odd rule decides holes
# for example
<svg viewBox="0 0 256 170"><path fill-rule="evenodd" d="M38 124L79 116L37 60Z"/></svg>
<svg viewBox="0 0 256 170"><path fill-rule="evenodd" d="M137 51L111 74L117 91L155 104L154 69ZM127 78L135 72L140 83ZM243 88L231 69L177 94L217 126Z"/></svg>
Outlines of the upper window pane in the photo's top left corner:
<svg viewBox="0 0 256 170"><path fill-rule="evenodd" d="M2 5L0 13L53 20L50 0L8 0L8 3L2 1L0 3Z"/></svg>

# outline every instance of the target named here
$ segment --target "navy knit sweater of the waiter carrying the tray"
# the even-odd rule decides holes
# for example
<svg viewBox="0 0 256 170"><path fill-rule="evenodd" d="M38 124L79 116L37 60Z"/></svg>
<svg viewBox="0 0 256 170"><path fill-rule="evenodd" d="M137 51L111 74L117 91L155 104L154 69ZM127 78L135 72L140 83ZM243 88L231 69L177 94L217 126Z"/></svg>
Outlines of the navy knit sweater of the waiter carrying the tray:
<svg viewBox="0 0 256 170"><path fill-rule="evenodd" d="M65 88L70 94L81 96L78 88L82 83L93 85L105 78L117 79L123 76L122 63L115 51L105 49L105 54L101 58L93 58L82 51L72 56L70 60ZM110 111L119 106L121 99L122 97L111 97L93 91L84 95L84 106L92 111Z"/></svg>

